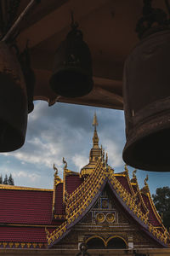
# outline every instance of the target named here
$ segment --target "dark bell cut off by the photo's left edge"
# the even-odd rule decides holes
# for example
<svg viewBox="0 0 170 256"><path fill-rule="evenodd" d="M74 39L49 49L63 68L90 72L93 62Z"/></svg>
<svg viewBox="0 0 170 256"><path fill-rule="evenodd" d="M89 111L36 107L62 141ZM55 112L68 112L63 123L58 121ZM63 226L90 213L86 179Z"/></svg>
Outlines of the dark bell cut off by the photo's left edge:
<svg viewBox="0 0 170 256"><path fill-rule="evenodd" d="M26 137L26 84L15 55L0 42L0 152L20 148Z"/></svg>

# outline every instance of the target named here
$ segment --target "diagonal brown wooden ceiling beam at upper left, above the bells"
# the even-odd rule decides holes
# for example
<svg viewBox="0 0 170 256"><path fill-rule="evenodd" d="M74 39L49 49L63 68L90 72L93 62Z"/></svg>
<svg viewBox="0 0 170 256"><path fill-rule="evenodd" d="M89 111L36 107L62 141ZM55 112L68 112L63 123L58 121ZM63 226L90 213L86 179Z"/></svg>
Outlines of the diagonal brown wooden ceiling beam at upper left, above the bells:
<svg viewBox="0 0 170 256"><path fill-rule="evenodd" d="M108 0L70 0L54 9L53 12L44 16L33 25L27 27L20 32L17 38L17 43L20 49L24 49L26 41L29 38L29 47L33 48L37 44L47 38L52 37L55 33L60 32L71 23L71 10L74 11L76 20L81 20L82 17L88 15L95 9L106 4Z"/></svg>

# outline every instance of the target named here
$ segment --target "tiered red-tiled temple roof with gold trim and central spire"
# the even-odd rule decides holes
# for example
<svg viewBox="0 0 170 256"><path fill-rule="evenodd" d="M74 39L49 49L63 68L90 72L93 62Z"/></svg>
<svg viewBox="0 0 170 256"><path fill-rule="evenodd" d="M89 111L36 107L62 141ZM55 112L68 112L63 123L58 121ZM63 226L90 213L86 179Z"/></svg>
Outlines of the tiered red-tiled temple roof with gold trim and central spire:
<svg viewBox="0 0 170 256"><path fill-rule="evenodd" d="M130 180L127 166L114 173L107 155L99 148L94 119L94 146L89 163L80 173L71 172L64 160L63 180L54 166L54 189L31 189L0 185L0 247L53 247L94 206L107 184L117 203L160 247L167 247L169 234L150 196L147 178L139 189L135 172Z"/></svg>

